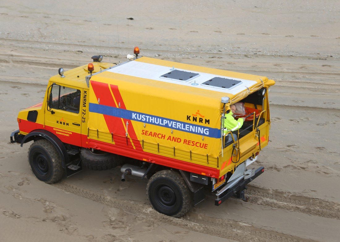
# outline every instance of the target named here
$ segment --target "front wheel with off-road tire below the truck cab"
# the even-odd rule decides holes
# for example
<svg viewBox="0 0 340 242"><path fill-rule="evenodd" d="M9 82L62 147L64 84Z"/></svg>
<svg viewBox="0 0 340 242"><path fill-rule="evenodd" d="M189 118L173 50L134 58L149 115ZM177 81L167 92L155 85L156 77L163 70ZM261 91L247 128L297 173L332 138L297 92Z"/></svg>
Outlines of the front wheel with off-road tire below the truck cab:
<svg viewBox="0 0 340 242"><path fill-rule="evenodd" d="M33 174L45 183L59 182L64 175L61 157L54 145L46 139L31 144L28 150L28 163Z"/></svg>

